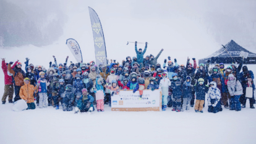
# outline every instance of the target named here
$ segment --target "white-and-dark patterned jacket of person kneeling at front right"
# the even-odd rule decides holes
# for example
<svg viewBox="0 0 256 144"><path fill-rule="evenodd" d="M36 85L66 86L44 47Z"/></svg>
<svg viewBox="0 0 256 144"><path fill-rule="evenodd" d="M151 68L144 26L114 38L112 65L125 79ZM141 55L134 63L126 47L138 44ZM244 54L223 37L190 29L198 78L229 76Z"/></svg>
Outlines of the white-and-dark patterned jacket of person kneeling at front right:
<svg viewBox="0 0 256 144"><path fill-rule="evenodd" d="M217 88L216 82L213 82L213 83L214 83L213 87L207 88L208 89L208 93L207 93L208 106L210 106L211 104L215 104L216 106L221 98L221 91L219 90L219 88Z"/></svg>

